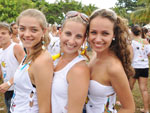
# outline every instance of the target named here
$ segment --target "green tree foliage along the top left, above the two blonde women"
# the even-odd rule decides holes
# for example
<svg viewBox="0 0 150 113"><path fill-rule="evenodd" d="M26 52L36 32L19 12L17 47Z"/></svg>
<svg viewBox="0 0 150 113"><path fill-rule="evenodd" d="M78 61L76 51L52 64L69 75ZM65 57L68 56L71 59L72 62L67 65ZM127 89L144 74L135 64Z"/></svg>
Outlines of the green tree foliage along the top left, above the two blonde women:
<svg viewBox="0 0 150 113"><path fill-rule="evenodd" d="M25 9L36 8L41 10L47 18L48 23L60 24L64 14L70 10L90 15L96 9L94 5L83 5L75 0L56 0L55 3L48 3L45 0L0 0L0 21L8 23L15 21L17 16Z"/></svg>

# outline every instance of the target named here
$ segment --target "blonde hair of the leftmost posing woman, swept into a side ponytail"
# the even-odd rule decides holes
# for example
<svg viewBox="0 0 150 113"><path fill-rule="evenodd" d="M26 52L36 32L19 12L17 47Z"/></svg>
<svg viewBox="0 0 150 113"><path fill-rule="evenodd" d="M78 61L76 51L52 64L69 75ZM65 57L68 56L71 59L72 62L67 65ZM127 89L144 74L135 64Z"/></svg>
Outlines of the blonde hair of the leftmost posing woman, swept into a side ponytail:
<svg viewBox="0 0 150 113"><path fill-rule="evenodd" d="M27 9L21 12L16 21L18 26L20 19L25 16L37 19L43 30L47 28L47 21L45 15L37 9ZM42 44L42 41L44 41L44 44ZM46 31L44 36L41 38L41 41L33 47L34 51L27 57L26 62L29 62L31 60L34 61L43 51L42 46L44 45L45 47L47 47L49 42L50 42L49 35L48 32Z"/></svg>

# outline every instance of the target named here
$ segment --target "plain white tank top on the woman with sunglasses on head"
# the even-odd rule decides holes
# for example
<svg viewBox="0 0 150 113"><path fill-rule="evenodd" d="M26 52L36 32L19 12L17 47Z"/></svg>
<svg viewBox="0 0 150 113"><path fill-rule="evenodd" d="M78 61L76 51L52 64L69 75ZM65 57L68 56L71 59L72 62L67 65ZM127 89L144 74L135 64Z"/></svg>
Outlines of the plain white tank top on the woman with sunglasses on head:
<svg viewBox="0 0 150 113"><path fill-rule="evenodd" d="M63 69L54 73L52 83L52 113L67 113L68 103L68 71L78 62L85 60L83 56L77 56Z"/></svg>

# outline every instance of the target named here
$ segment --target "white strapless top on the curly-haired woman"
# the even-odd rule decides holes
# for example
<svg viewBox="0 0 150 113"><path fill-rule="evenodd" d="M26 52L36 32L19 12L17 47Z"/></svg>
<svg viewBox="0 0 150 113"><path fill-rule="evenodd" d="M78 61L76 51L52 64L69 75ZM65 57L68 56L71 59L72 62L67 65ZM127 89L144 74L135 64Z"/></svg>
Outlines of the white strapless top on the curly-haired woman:
<svg viewBox="0 0 150 113"><path fill-rule="evenodd" d="M117 113L114 109L116 93L112 86L105 86L95 80L90 80L87 113Z"/></svg>

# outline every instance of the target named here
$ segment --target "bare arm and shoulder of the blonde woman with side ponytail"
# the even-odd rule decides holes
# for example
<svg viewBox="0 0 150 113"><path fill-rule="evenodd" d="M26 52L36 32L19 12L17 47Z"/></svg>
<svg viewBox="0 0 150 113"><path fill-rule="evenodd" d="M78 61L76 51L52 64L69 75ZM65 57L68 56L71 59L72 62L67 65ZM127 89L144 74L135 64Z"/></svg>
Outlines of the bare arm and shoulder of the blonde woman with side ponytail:
<svg viewBox="0 0 150 113"><path fill-rule="evenodd" d="M51 113L53 63L49 53L40 55L31 65L36 85L39 113Z"/></svg>

